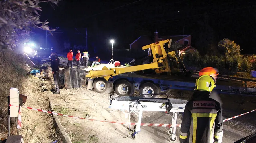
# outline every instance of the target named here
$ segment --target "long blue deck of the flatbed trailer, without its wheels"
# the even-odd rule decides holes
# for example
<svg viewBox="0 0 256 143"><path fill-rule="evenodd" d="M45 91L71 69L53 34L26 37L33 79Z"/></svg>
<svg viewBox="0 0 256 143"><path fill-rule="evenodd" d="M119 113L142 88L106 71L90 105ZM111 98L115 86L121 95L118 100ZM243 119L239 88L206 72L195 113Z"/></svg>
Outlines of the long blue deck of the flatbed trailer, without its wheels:
<svg viewBox="0 0 256 143"><path fill-rule="evenodd" d="M140 75L136 73L125 73L111 77L110 82L120 79L126 79L135 83L138 89L141 83L150 81L158 84L162 90L166 89L180 89L180 90L194 90L195 77L177 77L167 75ZM254 82L253 82L254 83ZM214 88L219 93L240 94L248 96L256 96L256 88L247 87L247 81L217 79L216 87Z"/></svg>

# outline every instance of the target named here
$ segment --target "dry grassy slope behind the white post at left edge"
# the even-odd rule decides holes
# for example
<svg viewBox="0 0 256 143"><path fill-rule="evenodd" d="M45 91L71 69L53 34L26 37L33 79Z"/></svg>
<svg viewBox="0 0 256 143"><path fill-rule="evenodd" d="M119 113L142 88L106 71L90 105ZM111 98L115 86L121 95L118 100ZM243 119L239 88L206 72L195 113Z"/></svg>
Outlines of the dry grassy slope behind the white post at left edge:
<svg viewBox="0 0 256 143"><path fill-rule="evenodd" d="M9 95L9 89L15 87L21 91L26 84L26 75L28 68L26 63L26 57L24 55L17 55L10 51L0 52L0 125L7 125L7 96ZM30 63L28 63L30 64ZM16 126L16 125L14 125ZM16 132L16 129L15 129ZM1 138L7 137L7 128L0 128Z"/></svg>

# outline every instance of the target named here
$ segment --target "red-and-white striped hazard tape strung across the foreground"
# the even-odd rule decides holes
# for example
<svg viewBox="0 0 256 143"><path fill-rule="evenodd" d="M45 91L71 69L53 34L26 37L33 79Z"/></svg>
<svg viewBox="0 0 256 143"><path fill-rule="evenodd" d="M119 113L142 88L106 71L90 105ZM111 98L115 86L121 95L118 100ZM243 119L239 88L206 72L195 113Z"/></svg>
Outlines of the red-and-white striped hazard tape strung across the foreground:
<svg viewBox="0 0 256 143"><path fill-rule="evenodd" d="M10 104L10 106L13 106ZM16 106L17 107L17 106ZM101 120L95 120L95 119L87 119L87 118L81 118L81 117L75 117L75 116L69 116L69 115L63 115L60 113L55 113L55 112L50 112L50 111L46 111L46 110L42 110L42 109L36 109L36 108L32 108L32 107L26 107L26 106L20 106L23 108L27 108L27 109L31 109L31 110L35 110L35 111L40 111L40 112L45 112L45 113L49 113L49 114L54 114L54 115L59 115L59 116L64 116L64 117L71 117L71 118L75 118L75 119L85 119L85 120L90 120L90 121L98 121L98 122L103 122L103 123L112 123L112 124L121 124L121 125L136 125L136 123L131 123L131 122L114 122L114 121L101 121ZM229 121L231 119L240 117L242 115L245 115L247 113L256 111L256 109L251 110L249 112L228 118L228 119L224 119L223 122ZM21 126L21 117L20 117L20 126ZM172 126L176 126L176 127L181 127L181 124L176 124L176 125L172 125L172 124L149 124L149 123L141 123L141 126L158 126L158 127L172 127Z"/></svg>

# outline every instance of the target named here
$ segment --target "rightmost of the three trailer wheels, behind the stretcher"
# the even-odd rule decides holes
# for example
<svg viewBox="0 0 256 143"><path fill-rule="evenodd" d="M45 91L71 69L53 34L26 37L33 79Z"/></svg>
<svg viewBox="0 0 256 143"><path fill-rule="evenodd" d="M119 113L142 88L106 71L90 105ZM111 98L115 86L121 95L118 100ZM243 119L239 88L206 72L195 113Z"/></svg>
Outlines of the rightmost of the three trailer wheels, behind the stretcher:
<svg viewBox="0 0 256 143"><path fill-rule="evenodd" d="M145 94L154 94L154 93L160 93L159 88L150 82L144 83L140 87L140 97L145 98L157 98L158 95L145 95Z"/></svg>

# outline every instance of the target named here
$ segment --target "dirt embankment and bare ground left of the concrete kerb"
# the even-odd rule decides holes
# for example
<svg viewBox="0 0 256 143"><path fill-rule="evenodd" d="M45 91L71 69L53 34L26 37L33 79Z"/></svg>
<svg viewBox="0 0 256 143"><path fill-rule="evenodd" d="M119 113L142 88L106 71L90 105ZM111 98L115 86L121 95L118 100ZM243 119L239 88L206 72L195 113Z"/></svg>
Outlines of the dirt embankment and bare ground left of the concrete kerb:
<svg viewBox="0 0 256 143"><path fill-rule="evenodd" d="M50 110L49 98L43 93L45 87L51 87L47 80L31 78L31 70L24 55L12 52L0 52L0 138L7 138L7 96L9 89L15 87L21 94L28 96L24 106ZM58 140L53 129L52 117L43 112L22 108L22 129L17 129L16 118L11 118L11 135L22 134L25 143L44 143Z"/></svg>

